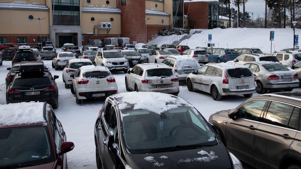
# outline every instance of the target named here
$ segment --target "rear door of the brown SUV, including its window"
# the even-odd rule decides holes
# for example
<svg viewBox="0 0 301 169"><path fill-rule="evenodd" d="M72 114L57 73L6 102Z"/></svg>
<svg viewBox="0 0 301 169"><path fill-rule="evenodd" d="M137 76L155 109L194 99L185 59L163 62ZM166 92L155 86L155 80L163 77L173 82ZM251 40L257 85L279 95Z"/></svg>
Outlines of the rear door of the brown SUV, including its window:
<svg viewBox="0 0 301 169"><path fill-rule="evenodd" d="M289 154L298 130L299 107L271 101L254 136L256 168L278 168L279 161Z"/></svg>

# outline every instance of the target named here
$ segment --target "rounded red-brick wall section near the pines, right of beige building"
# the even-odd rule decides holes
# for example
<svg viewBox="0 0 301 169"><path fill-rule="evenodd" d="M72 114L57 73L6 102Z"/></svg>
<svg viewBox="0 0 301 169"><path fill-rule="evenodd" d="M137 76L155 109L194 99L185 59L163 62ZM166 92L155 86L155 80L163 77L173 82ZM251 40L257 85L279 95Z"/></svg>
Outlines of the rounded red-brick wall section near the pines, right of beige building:
<svg viewBox="0 0 301 169"><path fill-rule="evenodd" d="M188 11L189 8L189 11ZM184 3L184 14L187 14L187 28L208 29L208 2Z"/></svg>

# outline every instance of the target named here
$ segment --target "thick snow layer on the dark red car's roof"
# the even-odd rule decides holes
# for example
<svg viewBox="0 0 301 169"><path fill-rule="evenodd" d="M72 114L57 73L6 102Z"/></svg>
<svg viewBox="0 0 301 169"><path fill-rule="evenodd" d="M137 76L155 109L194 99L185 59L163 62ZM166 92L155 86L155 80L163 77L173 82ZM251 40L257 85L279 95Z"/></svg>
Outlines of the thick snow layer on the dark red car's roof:
<svg viewBox="0 0 301 169"><path fill-rule="evenodd" d="M46 123L44 102L21 102L0 106L0 127L16 124Z"/></svg>

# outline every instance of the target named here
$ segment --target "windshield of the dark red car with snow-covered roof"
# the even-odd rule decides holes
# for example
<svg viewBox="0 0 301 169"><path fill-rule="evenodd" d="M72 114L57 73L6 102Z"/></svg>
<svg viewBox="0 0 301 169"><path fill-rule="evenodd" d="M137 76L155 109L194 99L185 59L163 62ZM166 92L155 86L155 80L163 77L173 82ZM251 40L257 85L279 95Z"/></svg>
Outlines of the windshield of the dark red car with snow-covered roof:
<svg viewBox="0 0 301 169"><path fill-rule="evenodd" d="M0 168L54 161L47 126L1 128L0 136Z"/></svg>

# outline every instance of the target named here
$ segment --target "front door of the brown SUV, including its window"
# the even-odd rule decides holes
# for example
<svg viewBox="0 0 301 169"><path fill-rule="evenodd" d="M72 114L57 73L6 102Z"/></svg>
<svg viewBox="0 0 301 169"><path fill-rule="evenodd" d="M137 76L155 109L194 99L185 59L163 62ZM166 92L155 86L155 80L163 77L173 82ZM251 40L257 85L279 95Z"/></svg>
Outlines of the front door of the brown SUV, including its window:
<svg viewBox="0 0 301 169"><path fill-rule="evenodd" d="M227 149L252 166L254 166L254 134L267 104L268 100L250 100L237 108L236 118L224 121Z"/></svg>

